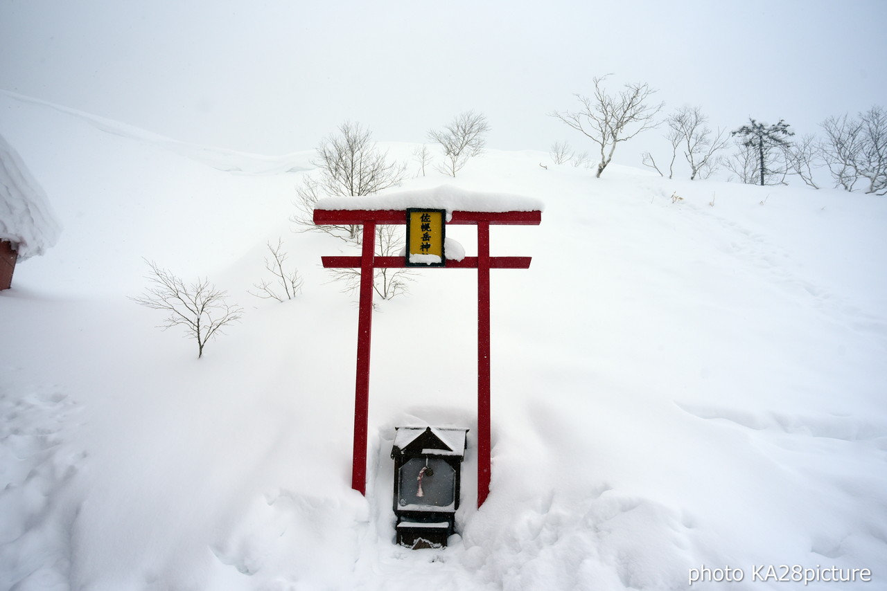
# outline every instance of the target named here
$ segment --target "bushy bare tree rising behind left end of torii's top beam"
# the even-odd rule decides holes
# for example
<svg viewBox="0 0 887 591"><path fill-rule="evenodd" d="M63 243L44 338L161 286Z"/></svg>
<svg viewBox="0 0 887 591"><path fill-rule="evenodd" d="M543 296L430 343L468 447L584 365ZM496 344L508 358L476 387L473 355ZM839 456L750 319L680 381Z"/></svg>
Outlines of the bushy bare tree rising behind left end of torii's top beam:
<svg viewBox="0 0 887 591"><path fill-rule="evenodd" d="M315 226L312 222L318 198L363 197L400 184L406 175L404 162L392 162L388 152L380 152L373 134L359 123L346 121L338 134L326 136L317 148L319 176L306 175L296 188L297 213L293 222L306 229L319 229L346 240L356 240L359 226Z"/></svg>

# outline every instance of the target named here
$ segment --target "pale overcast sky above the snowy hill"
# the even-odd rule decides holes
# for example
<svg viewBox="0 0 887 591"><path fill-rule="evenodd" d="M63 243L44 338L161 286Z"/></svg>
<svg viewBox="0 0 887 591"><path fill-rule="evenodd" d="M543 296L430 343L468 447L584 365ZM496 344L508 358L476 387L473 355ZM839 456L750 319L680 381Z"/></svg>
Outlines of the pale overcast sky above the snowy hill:
<svg viewBox="0 0 887 591"><path fill-rule="evenodd" d="M885 22L884 0L0 0L0 89L273 155L346 120L422 142L467 109L491 148L592 148L547 113L608 73L659 89L665 113L804 134L887 103Z"/></svg>

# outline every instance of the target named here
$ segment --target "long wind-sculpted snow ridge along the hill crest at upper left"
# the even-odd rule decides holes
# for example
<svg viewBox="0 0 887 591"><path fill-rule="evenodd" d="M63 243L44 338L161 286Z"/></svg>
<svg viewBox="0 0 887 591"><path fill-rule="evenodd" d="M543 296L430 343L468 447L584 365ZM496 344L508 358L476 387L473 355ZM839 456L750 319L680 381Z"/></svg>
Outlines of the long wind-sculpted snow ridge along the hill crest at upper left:
<svg viewBox="0 0 887 591"><path fill-rule="evenodd" d="M224 150L198 144L188 144L186 142L180 142L166 136L146 131L142 128L122 123L121 121L114 121L106 119L105 117L99 117L98 115L83 113L76 109L71 109L62 105L55 105L38 98L26 97L8 90L0 90L0 95L5 95L6 97L10 97L13 100L23 103L42 105L59 111L59 113L73 115L77 119L85 121L94 128L100 129L112 136L121 136L145 144L153 144L163 150L175 152L224 172L261 176L297 173L313 168L309 162L310 152L294 152L282 156L263 156L260 154L236 152L233 150Z"/></svg>

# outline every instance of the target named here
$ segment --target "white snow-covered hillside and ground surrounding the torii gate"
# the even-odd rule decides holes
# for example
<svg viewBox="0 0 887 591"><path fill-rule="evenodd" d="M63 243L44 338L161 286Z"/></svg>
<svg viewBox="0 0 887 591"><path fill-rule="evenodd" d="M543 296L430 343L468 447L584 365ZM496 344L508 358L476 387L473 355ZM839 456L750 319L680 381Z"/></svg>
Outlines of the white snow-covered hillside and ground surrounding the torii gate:
<svg viewBox="0 0 887 591"><path fill-rule="evenodd" d="M7 93L0 134L64 227L0 292L0 588L658 590L703 565L743 580L692 588L887 588L887 199L596 180L540 152L404 183L546 204L491 230L493 255L533 262L492 272L476 509L474 272L377 299L364 498L357 298L319 268L346 249L288 220L310 145L211 150ZM475 253L472 227L447 236ZM304 278L284 303L247 293L279 237ZM208 276L242 322L198 360L128 299L143 259ZM448 548L393 543L402 424L471 429ZM797 569L820 580L775 580Z"/></svg>

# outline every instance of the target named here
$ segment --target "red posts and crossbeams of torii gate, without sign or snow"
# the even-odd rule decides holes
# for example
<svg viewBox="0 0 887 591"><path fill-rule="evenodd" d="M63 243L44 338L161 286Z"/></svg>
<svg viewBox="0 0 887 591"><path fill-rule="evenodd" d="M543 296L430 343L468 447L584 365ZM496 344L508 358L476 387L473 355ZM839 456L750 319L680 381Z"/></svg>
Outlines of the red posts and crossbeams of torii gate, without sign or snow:
<svg viewBox="0 0 887 591"><path fill-rule="evenodd" d="M322 205L322 204L321 204ZM319 205L318 205L319 206ZM477 226L477 256L445 261L446 268L477 269L477 506L490 493L490 269L530 268L531 257L490 256L490 226L538 225L541 210L474 212L452 211L447 224ZM354 400L354 451L351 488L366 494L366 432L369 421L370 343L373 323L373 269L405 268L405 257L375 256L377 225L407 223L403 209L320 209L314 223L363 226L361 255L321 257L325 268L360 268L357 319L357 378ZM369 238L369 239L367 239ZM434 267L428 267L434 268Z"/></svg>

